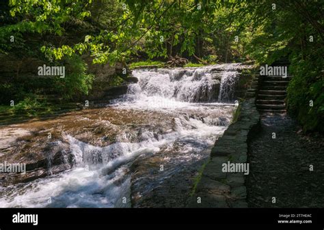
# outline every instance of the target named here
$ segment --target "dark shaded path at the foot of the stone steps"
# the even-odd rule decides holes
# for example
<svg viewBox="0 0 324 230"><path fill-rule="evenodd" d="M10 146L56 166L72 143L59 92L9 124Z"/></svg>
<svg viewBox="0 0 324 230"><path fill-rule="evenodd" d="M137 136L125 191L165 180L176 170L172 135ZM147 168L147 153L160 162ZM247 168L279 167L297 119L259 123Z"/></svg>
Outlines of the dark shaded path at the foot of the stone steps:
<svg viewBox="0 0 324 230"><path fill-rule="evenodd" d="M248 206L324 207L324 136L303 134L285 113L265 113L260 125L249 143Z"/></svg>

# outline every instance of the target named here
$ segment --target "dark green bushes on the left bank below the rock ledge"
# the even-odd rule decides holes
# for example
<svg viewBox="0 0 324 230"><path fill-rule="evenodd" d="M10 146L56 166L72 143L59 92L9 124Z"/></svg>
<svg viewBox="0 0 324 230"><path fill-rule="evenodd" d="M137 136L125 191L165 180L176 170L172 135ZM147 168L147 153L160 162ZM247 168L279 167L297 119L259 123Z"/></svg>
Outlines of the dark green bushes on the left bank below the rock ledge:
<svg viewBox="0 0 324 230"><path fill-rule="evenodd" d="M66 67L65 78L58 76L39 78L20 76L8 78L0 83L0 104L9 105L14 100L15 111L31 111L29 104L38 108L38 96L46 98L46 94L55 95L57 100L63 97L66 100L79 100L87 95L92 88L94 76L87 74L87 66L79 56L72 56L64 59ZM19 104L19 105L18 105ZM17 107L18 106L18 107Z"/></svg>

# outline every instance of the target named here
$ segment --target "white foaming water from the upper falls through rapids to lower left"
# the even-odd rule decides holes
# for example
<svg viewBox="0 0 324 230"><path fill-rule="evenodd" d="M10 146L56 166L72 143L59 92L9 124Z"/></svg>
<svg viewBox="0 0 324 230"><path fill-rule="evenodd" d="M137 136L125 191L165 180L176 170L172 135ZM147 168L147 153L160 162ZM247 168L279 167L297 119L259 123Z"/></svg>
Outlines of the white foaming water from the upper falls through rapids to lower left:
<svg viewBox="0 0 324 230"><path fill-rule="evenodd" d="M133 161L146 154L171 154L165 161L191 162L206 158L232 115L232 97L237 65L174 70L136 70L138 83L129 93L114 100L109 108L154 111L174 117L171 130L142 132L138 142L120 141L106 147L93 146L69 134L74 167L26 184L3 188L0 207L129 207ZM213 69L224 70L221 78ZM215 86L219 94L215 94ZM148 121L149 123L149 121ZM127 140L124 134L120 139ZM185 143L180 150L174 146ZM180 152L179 152L180 151ZM208 151L207 151L208 152ZM164 155L163 155L164 156ZM123 198L126 203L123 203Z"/></svg>

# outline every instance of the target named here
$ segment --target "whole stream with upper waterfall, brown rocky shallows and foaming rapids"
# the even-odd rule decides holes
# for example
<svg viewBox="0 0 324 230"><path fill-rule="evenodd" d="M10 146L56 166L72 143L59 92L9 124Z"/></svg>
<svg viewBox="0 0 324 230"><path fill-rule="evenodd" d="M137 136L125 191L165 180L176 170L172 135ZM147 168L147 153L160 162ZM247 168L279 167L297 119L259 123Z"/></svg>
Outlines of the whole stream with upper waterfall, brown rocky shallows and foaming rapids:
<svg viewBox="0 0 324 230"><path fill-rule="evenodd" d="M102 108L1 126L0 162L27 173L1 173L0 206L185 207L237 107L240 68L136 70Z"/></svg>

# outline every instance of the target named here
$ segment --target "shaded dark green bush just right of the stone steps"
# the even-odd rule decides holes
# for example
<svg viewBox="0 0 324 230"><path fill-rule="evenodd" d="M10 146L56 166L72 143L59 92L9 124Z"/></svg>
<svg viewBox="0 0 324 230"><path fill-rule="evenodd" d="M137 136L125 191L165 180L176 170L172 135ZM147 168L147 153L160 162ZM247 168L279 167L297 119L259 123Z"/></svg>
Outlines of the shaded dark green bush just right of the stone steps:
<svg viewBox="0 0 324 230"><path fill-rule="evenodd" d="M314 51L313 57L324 49ZM288 85L288 110L303 124L303 129L324 132L324 66L323 59L293 60L293 79ZM312 101L312 106L311 105Z"/></svg>

